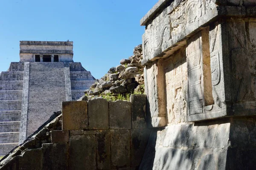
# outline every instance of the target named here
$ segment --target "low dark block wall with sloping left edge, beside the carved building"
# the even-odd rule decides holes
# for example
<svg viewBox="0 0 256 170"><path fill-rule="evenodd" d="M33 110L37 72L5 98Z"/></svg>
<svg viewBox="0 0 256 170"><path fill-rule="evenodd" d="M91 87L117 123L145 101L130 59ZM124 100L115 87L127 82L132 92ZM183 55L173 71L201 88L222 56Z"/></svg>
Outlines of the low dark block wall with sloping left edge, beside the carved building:
<svg viewBox="0 0 256 170"><path fill-rule="evenodd" d="M62 116L13 149L0 169L135 170L151 131L145 105L145 95L132 95L131 102L63 102Z"/></svg>

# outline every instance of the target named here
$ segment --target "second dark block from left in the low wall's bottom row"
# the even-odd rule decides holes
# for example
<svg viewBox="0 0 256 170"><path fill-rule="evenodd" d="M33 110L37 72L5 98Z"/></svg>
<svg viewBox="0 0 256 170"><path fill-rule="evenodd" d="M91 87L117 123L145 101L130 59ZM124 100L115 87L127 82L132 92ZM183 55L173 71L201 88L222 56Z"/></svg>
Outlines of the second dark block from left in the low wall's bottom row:
<svg viewBox="0 0 256 170"><path fill-rule="evenodd" d="M42 144L43 170L68 170L67 143Z"/></svg>

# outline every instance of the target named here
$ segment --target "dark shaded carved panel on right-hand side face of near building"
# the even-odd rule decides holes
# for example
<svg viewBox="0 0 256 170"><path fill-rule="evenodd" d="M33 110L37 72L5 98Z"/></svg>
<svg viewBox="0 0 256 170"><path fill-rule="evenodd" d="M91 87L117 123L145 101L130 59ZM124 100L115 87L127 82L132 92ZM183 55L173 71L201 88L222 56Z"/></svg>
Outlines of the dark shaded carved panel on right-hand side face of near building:
<svg viewBox="0 0 256 170"><path fill-rule="evenodd" d="M229 20L234 102L256 101L256 21Z"/></svg>

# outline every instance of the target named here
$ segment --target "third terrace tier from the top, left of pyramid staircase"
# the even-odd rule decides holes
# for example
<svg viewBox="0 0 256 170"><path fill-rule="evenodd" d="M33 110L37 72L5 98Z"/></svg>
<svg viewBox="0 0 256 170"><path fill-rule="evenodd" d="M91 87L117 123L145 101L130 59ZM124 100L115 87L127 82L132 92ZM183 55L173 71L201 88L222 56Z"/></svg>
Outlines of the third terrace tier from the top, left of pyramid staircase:
<svg viewBox="0 0 256 170"><path fill-rule="evenodd" d="M0 80L0 91L9 91L9 90L22 90L23 81L22 80Z"/></svg>

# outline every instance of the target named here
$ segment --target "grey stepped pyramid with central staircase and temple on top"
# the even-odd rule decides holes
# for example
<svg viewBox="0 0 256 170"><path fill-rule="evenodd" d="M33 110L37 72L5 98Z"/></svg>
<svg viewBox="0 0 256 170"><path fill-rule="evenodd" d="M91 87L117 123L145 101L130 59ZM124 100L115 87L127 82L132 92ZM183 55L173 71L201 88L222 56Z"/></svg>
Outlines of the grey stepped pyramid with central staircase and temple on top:
<svg viewBox="0 0 256 170"><path fill-rule="evenodd" d="M96 79L73 62L73 42L20 41L20 62L0 74L0 156L79 99Z"/></svg>

